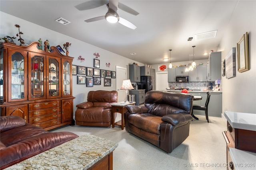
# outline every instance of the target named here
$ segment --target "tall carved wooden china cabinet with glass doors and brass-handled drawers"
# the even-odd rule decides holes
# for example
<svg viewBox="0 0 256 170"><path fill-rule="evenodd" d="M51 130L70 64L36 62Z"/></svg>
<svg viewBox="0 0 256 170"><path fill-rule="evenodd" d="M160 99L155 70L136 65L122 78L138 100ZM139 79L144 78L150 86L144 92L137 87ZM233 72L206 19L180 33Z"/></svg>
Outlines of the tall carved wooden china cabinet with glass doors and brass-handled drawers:
<svg viewBox="0 0 256 170"><path fill-rule="evenodd" d="M1 43L1 115L17 115L46 130L74 124L73 57L56 47Z"/></svg>

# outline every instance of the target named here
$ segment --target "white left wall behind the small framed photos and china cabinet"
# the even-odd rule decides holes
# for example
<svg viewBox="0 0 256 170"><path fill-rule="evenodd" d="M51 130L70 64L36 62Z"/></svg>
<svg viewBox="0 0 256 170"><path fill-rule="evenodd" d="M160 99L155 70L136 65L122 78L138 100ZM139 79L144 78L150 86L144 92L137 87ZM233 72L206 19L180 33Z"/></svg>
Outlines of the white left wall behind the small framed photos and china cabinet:
<svg viewBox="0 0 256 170"><path fill-rule="evenodd" d="M22 20L20 18L11 16L4 12L0 12L0 37L4 37L6 35L10 37L16 37L16 33L18 33L18 28L14 26L14 24L20 25L20 31L24 33L21 35L22 39L24 39L26 44L30 44L33 41L38 41L38 39L42 39L42 41L49 40L50 46L62 45L66 42L71 43L71 47L69 49L69 56L74 57L73 65L78 66L86 66L93 68L93 59L95 59L94 53L99 53L100 57L100 69L103 70L111 70L116 71L116 66L127 67L128 64L138 63L136 61L127 59L120 55L114 54L110 51L106 51L99 47L90 45L88 43L82 42L80 40L74 39L72 37L63 35L56 31L52 31L45 27L41 27L40 25L36 25L34 23ZM20 45L20 42L14 39L14 42L17 45ZM3 40L2 40L3 41ZM80 62L78 60L79 56L85 58L84 62ZM110 67L106 67L106 63L110 63ZM142 66L142 63L138 63L139 66ZM116 74L118 76L118 74ZM104 79L101 78L101 85L94 85L93 87L86 87L85 84L77 84L77 76L72 76L72 85L73 85L73 96L76 97L74 99L74 113L76 110L76 105L87 100L87 94L91 90L116 90L116 79L112 78L111 83L112 87L104 87Z"/></svg>

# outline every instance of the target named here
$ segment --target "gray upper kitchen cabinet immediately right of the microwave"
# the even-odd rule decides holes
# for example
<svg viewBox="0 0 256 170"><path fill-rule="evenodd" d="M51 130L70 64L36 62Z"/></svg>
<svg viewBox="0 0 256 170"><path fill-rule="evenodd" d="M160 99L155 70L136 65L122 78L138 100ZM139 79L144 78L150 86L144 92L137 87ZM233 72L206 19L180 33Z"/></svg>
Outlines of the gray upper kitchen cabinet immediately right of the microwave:
<svg viewBox="0 0 256 170"><path fill-rule="evenodd" d="M207 65L198 65L194 70L189 71L190 82L206 82L207 81Z"/></svg>

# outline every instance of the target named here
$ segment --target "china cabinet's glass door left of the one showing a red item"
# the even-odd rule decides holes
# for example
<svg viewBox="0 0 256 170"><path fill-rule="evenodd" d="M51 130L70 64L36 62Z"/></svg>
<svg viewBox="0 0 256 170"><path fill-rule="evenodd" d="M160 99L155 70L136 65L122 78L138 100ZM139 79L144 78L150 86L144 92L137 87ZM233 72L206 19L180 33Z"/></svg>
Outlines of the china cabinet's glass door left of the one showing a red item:
<svg viewBox="0 0 256 170"><path fill-rule="evenodd" d="M26 52L9 51L12 54L8 62L8 102L27 100L27 57ZM24 57L25 56L25 57ZM7 79L6 79L7 80Z"/></svg>

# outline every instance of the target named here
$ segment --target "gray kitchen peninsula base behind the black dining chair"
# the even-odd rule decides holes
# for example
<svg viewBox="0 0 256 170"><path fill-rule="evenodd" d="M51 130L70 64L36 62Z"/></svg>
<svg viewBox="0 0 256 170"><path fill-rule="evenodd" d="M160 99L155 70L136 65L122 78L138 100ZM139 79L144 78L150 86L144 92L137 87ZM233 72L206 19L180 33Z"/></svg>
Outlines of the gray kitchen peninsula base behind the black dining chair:
<svg viewBox="0 0 256 170"><path fill-rule="evenodd" d="M189 92L193 96L202 96L202 100L193 101L193 104L204 106L207 98L206 92L194 93ZM194 114L196 115L205 115L203 110L194 110ZM208 115L221 117L222 114L222 93L212 92L210 97L210 102L208 105Z"/></svg>

